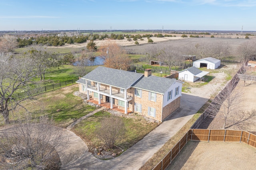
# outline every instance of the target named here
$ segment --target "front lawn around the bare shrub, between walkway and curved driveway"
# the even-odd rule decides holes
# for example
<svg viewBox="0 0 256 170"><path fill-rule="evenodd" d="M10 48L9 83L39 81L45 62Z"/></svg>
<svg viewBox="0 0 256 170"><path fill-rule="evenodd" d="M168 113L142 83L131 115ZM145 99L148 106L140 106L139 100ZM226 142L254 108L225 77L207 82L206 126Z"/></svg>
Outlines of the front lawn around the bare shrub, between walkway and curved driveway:
<svg viewBox="0 0 256 170"><path fill-rule="evenodd" d="M105 117L115 116L106 111L100 111L94 115L84 119L78 123L73 131L79 135L89 149L104 145L100 139L98 139L94 133L96 126L100 124L100 120ZM133 114L133 118L122 117L124 121L126 133L119 140L116 141L115 145L126 150L146 136L150 131L158 126L158 123L147 123L146 120L140 115Z"/></svg>

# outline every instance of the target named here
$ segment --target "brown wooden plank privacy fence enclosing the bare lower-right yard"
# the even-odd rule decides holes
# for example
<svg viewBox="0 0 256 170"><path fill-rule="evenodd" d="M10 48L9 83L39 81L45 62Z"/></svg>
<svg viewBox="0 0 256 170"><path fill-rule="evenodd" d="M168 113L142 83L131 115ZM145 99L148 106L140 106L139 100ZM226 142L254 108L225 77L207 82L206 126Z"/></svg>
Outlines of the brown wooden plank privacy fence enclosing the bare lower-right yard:
<svg viewBox="0 0 256 170"><path fill-rule="evenodd" d="M165 170L180 153L188 141L219 141L240 142L256 147L256 135L247 131L215 130L215 129L190 129L153 170Z"/></svg>

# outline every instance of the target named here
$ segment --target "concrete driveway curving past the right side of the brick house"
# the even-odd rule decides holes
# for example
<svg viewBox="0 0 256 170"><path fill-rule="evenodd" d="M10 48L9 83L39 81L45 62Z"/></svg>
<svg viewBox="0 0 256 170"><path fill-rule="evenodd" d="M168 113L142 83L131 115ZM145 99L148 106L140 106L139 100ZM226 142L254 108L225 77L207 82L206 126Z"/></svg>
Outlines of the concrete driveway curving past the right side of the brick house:
<svg viewBox="0 0 256 170"><path fill-rule="evenodd" d="M208 98L182 93L180 108L144 139L117 158L100 160L74 133L65 129L71 145L60 155L63 170L138 170L204 105Z"/></svg>

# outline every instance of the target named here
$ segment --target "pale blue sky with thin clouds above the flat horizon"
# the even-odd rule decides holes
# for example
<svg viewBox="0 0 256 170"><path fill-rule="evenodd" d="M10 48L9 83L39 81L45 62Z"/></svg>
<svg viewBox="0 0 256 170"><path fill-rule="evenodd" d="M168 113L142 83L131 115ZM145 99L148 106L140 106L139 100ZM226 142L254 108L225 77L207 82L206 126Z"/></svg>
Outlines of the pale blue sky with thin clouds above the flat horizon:
<svg viewBox="0 0 256 170"><path fill-rule="evenodd" d="M256 30L256 0L0 0L0 31Z"/></svg>

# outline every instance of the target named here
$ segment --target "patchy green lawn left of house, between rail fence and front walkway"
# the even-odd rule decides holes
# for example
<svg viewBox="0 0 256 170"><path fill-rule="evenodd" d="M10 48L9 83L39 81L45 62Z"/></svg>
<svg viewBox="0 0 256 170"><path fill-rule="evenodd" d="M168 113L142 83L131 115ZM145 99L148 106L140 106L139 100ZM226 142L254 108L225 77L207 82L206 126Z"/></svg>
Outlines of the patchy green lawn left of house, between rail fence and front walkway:
<svg viewBox="0 0 256 170"><path fill-rule="evenodd" d="M96 109L84 104L81 98L73 96L75 91L78 91L78 84L35 96L36 100L26 100L22 105L33 115L48 115L49 118L54 119L57 126L67 127L78 118ZM57 111L58 109L60 111ZM22 107L18 107L10 114L10 121L20 119L25 113ZM2 117L0 121L1 119Z"/></svg>

